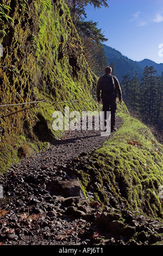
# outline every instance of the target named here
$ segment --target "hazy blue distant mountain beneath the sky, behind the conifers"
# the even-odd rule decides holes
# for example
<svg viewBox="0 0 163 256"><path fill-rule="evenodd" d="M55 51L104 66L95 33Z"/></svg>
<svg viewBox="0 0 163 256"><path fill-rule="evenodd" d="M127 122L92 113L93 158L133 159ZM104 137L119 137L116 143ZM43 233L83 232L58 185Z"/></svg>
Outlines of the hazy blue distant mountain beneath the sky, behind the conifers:
<svg viewBox="0 0 163 256"><path fill-rule="evenodd" d="M157 64L149 59L144 59L141 60L141 62L136 62L126 56L123 56L121 52L115 50L114 48L106 45L103 46L108 65L111 62L115 64L116 76L120 82L122 81L122 76L127 74L131 77L138 74L138 77L141 79L145 66L154 66L154 69L158 70L158 75L161 75L161 72L163 71L162 63Z"/></svg>

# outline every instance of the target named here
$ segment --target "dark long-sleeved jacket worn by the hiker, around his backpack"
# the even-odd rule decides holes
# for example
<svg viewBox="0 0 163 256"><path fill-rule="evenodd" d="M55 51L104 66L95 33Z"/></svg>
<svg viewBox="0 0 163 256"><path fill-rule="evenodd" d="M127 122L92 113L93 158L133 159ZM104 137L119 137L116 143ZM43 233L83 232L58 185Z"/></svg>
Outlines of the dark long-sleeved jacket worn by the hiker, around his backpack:
<svg viewBox="0 0 163 256"><path fill-rule="evenodd" d="M103 80L104 76L99 77L99 80L97 82L97 88L96 88L96 96L97 96L97 100L100 101L101 100L101 90L102 90L102 80ZM120 87L120 83L118 82L118 79L116 76L112 76L115 82L115 92L111 93L110 95L115 95L117 96L118 94L118 98L119 100L122 100L122 90Z"/></svg>

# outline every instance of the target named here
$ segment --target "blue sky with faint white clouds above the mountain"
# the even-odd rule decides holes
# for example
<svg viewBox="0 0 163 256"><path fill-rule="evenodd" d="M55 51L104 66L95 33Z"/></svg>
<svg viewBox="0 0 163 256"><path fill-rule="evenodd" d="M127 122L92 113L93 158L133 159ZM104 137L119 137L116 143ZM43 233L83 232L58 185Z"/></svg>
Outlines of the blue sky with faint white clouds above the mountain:
<svg viewBox="0 0 163 256"><path fill-rule="evenodd" d="M87 20L98 22L108 39L105 44L133 60L163 63L163 0L108 0L108 5L86 8Z"/></svg>

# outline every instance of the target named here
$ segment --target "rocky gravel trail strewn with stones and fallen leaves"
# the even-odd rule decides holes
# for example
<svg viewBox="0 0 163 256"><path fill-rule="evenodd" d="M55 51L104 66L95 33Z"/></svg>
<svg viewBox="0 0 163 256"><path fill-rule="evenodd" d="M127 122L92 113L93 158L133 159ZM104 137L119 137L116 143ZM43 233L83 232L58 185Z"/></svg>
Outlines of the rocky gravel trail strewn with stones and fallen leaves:
<svg viewBox="0 0 163 256"><path fill-rule="evenodd" d="M120 119L116 124L121 125ZM163 244L159 221L102 207L85 198L78 178L66 172L67 164L106 139L99 131L72 131L47 151L12 165L1 176L0 244Z"/></svg>

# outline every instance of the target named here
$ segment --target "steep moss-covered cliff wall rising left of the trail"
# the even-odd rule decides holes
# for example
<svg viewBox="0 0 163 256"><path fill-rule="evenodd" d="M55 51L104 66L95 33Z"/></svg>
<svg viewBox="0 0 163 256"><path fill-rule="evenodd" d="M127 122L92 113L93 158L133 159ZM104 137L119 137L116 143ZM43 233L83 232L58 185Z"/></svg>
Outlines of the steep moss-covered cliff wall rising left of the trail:
<svg viewBox="0 0 163 256"><path fill-rule="evenodd" d="M82 53L80 39L62 0L0 1L3 57L0 58L0 102L92 100L96 83ZM35 107L34 107L35 106ZM0 169L30 153L35 145L53 143L52 113L65 106L81 111L93 101L0 108ZM34 108L30 108L34 107ZM30 108L30 109L29 109ZM16 112L16 113L15 113ZM10 115L11 113L15 113Z"/></svg>

